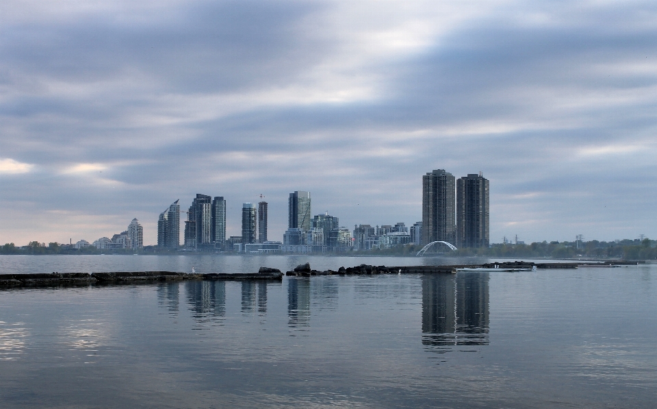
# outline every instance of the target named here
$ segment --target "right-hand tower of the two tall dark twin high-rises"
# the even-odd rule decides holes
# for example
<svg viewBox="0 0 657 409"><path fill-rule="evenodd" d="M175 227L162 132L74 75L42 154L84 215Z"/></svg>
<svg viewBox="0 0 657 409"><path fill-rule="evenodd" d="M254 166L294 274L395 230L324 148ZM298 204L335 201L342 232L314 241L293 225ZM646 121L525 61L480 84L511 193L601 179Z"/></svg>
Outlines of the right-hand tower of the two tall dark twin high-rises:
<svg viewBox="0 0 657 409"><path fill-rule="evenodd" d="M481 173L456 180L456 247L488 247L489 181Z"/></svg>

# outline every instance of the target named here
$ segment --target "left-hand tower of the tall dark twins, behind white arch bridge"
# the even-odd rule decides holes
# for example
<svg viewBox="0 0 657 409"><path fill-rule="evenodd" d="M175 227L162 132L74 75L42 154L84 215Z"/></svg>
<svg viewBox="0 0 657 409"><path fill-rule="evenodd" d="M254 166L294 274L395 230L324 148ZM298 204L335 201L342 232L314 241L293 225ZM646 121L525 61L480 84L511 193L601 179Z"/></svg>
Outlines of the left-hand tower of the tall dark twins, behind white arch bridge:
<svg viewBox="0 0 657 409"><path fill-rule="evenodd" d="M422 244L433 241L454 243L454 176L437 169L422 176Z"/></svg>

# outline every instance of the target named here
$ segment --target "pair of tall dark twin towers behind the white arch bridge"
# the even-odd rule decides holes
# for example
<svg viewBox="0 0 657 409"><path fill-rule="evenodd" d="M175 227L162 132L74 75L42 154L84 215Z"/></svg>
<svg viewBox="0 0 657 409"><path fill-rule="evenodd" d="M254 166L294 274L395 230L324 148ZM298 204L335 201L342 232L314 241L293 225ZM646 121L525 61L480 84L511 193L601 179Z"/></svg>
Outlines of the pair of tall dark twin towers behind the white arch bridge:
<svg viewBox="0 0 657 409"><path fill-rule="evenodd" d="M422 243L488 247L489 181L479 174L455 179L444 169L422 177Z"/></svg>

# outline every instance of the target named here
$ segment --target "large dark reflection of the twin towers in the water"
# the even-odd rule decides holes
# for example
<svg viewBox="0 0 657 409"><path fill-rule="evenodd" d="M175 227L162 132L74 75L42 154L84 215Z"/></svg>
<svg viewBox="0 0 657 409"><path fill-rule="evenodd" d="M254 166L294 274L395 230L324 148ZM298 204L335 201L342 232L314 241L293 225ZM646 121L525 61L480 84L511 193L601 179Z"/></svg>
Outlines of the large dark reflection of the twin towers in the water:
<svg viewBox="0 0 657 409"><path fill-rule="evenodd" d="M488 345L488 282L489 273L424 275L422 343L428 347Z"/></svg>

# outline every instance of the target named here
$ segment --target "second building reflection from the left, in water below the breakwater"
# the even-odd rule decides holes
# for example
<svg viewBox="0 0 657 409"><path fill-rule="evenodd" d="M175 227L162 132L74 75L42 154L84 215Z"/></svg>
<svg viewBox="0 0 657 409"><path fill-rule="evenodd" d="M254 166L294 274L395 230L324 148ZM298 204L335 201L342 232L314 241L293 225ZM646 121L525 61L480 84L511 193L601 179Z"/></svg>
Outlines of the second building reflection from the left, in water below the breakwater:
<svg viewBox="0 0 657 409"><path fill-rule="evenodd" d="M194 319L212 319L226 315L225 282L189 281L185 286Z"/></svg>

